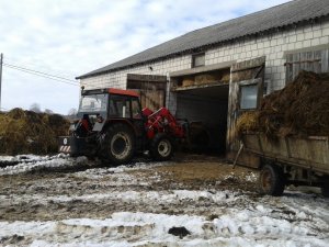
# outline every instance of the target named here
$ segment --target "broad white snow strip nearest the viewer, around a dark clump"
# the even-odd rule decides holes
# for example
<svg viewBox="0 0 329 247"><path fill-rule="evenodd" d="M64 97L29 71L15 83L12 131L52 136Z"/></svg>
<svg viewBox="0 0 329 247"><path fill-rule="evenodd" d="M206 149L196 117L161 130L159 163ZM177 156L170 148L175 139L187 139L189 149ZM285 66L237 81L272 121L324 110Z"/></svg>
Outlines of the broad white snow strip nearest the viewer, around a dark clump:
<svg viewBox="0 0 329 247"><path fill-rule="evenodd" d="M117 212L105 220L0 222L0 237L24 236L31 246L328 246L328 232L319 234L297 217L274 218L263 205L231 210L212 221L196 215ZM316 220L319 227L328 227ZM190 234L168 234L174 226Z"/></svg>

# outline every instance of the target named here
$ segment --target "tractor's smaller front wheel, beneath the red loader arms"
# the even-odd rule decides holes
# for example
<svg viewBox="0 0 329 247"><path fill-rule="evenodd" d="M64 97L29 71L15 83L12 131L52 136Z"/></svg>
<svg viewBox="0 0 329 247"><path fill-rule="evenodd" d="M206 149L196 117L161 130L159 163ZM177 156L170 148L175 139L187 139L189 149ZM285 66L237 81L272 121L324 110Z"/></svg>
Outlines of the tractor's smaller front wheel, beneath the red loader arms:
<svg viewBox="0 0 329 247"><path fill-rule="evenodd" d="M157 161L169 160L174 153L172 139L164 133L158 133L150 144L151 157Z"/></svg>

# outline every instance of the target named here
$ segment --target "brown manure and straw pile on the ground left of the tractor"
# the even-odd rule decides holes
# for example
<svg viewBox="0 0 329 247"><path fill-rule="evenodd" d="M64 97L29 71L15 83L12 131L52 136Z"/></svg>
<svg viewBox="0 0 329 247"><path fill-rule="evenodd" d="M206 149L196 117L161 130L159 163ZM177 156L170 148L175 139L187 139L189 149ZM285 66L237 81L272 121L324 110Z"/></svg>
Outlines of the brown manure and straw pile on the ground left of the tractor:
<svg viewBox="0 0 329 247"><path fill-rule="evenodd" d="M67 134L69 122L58 114L13 109L0 114L0 154L57 151L57 137Z"/></svg>

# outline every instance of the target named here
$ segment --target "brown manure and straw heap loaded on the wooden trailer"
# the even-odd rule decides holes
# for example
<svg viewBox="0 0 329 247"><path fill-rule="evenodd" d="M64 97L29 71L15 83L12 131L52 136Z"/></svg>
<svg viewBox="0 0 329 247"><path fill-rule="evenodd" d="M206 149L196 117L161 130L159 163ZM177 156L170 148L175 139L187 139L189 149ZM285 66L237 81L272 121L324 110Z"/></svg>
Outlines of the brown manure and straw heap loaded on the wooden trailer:
<svg viewBox="0 0 329 247"><path fill-rule="evenodd" d="M300 71L293 82L261 102L256 112L242 114L238 134L263 132L277 136L329 136L329 74Z"/></svg>

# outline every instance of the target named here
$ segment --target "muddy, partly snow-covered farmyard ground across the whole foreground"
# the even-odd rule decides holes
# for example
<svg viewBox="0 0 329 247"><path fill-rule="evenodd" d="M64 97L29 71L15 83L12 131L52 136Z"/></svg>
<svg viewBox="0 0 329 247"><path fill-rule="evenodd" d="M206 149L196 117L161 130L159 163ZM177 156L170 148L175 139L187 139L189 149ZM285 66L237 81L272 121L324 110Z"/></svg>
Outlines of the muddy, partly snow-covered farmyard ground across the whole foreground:
<svg viewBox="0 0 329 247"><path fill-rule="evenodd" d="M1 157L0 246L328 246L328 199L291 188L261 197L257 177L191 154L115 168Z"/></svg>

